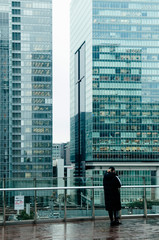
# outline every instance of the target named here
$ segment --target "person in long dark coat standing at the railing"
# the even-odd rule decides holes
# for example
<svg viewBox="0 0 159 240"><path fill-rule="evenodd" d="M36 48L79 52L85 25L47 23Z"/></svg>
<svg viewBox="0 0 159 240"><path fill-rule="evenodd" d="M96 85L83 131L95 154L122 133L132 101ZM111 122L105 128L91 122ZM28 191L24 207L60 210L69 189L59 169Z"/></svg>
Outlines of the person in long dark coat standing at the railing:
<svg viewBox="0 0 159 240"><path fill-rule="evenodd" d="M121 224L119 222L119 211L121 210L120 191L121 181L114 167L109 167L103 178L105 209L109 213L110 225Z"/></svg>

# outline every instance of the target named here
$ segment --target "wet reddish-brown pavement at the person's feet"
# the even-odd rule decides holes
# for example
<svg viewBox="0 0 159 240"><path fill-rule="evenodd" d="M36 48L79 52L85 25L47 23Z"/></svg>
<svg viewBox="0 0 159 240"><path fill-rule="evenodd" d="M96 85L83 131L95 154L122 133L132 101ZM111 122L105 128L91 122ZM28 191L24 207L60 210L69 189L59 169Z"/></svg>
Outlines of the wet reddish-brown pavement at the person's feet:
<svg viewBox="0 0 159 240"><path fill-rule="evenodd" d="M0 240L122 240L158 239L159 218L123 219L110 227L108 220L0 226Z"/></svg>

